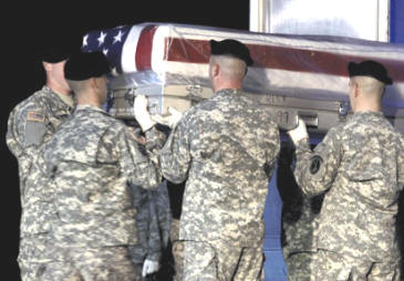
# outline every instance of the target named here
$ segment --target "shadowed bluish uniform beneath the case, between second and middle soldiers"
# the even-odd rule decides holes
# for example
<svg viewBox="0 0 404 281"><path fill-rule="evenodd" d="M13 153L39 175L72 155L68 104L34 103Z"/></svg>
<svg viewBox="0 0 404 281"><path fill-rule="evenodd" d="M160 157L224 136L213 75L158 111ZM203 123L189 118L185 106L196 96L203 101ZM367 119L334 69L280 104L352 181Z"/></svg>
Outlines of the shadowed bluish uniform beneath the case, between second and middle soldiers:
<svg viewBox="0 0 404 281"><path fill-rule="evenodd" d="M130 247L132 260L142 270L144 260L162 262L168 246L172 214L166 181L157 190L132 186L138 243Z"/></svg>

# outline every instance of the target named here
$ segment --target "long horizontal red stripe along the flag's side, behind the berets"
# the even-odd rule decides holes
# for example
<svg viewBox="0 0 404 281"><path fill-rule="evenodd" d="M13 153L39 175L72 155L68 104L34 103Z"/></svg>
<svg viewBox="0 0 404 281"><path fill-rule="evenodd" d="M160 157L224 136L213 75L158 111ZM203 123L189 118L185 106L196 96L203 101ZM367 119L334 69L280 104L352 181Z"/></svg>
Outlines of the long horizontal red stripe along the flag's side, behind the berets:
<svg viewBox="0 0 404 281"><path fill-rule="evenodd" d="M349 62L375 60L387 69L393 81L404 82L404 60L365 58L274 45L247 45L255 61L255 66L258 67L348 76L346 66ZM167 50L165 50L165 58L168 61L188 63L209 62L209 41L167 38L166 46L168 46L168 54Z"/></svg>

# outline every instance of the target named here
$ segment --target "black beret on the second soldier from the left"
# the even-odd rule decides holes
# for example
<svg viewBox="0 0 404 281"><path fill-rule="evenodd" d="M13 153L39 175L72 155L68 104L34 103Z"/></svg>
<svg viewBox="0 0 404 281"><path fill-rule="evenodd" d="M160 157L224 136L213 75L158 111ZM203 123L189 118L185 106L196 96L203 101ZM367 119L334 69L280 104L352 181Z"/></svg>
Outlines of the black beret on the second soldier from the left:
<svg viewBox="0 0 404 281"><path fill-rule="evenodd" d="M100 77L110 72L108 61L102 52L75 53L64 64L64 77L73 81Z"/></svg>

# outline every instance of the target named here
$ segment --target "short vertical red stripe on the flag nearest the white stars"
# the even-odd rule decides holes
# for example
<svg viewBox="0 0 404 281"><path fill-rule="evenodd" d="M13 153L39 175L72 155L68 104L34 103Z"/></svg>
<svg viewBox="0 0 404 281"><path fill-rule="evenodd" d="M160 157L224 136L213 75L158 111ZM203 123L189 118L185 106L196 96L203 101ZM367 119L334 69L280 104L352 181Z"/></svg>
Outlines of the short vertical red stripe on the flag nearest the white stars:
<svg viewBox="0 0 404 281"><path fill-rule="evenodd" d="M156 30L156 25L146 25L141 32L135 54L137 71L152 69L153 37Z"/></svg>

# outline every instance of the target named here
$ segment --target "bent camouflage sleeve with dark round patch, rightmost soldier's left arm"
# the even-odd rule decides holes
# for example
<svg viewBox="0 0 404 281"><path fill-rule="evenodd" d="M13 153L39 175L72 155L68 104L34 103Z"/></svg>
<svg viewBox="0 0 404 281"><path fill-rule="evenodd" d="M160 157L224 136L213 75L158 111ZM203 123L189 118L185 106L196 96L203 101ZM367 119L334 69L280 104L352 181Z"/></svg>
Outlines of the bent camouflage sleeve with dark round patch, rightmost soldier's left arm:
<svg viewBox="0 0 404 281"><path fill-rule="evenodd" d="M297 144L294 178L304 194L315 196L331 187L341 162L340 146L336 128L331 128L314 150L308 139Z"/></svg>

